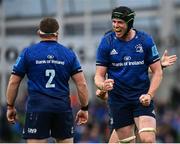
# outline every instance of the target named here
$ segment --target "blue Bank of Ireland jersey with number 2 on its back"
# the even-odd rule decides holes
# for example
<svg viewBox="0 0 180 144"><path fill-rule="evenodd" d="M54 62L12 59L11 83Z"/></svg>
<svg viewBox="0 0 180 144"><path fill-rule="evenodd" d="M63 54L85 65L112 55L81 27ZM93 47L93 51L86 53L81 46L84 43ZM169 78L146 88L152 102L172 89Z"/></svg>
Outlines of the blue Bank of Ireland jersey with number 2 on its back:
<svg viewBox="0 0 180 144"><path fill-rule="evenodd" d="M28 112L70 111L70 77L81 72L75 53L56 41L41 41L25 48L12 74L28 77Z"/></svg>

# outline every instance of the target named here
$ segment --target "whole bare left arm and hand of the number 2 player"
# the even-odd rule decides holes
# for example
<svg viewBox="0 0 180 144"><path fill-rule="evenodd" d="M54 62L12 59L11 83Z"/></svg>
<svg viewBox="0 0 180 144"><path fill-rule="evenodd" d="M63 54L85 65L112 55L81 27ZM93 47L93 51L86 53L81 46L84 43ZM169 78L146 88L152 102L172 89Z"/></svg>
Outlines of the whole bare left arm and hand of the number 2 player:
<svg viewBox="0 0 180 144"><path fill-rule="evenodd" d="M7 120L10 123L14 123L16 120L16 109L14 103L17 97L19 85L21 83L22 77L11 74L7 91L6 91L6 101L7 101Z"/></svg>

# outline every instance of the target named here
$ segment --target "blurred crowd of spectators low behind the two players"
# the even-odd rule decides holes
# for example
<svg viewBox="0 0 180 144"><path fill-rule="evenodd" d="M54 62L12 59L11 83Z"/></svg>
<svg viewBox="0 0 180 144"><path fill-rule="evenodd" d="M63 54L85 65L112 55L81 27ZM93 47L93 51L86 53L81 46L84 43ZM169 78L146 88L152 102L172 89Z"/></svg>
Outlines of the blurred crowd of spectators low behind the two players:
<svg viewBox="0 0 180 144"><path fill-rule="evenodd" d="M27 97L21 98L16 105L18 121L16 124L8 124L6 120L6 106L0 107L0 142L25 142L21 138L24 123L25 105ZM71 96L74 115L79 109L77 96ZM168 103L156 102L157 115L157 142L180 142L180 91L172 88L171 101ZM89 121L86 125L75 124L75 142L82 143L106 143L111 133L109 126L109 113L106 102L95 98L90 102ZM53 139L49 139L53 142Z"/></svg>

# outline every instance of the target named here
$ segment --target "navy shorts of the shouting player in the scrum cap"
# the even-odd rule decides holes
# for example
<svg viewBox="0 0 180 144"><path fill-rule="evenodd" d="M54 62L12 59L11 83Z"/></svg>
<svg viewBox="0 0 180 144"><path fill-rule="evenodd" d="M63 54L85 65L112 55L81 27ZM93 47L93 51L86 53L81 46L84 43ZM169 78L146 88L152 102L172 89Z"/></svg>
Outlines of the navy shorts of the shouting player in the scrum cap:
<svg viewBox="0 0 180 144"><path fill-rule="evenodd" d="M154 103L145 107L139 100L110 105L111 124L113 129L119 129L134 124L134 118L147 115L155 118Z"/></svg>

